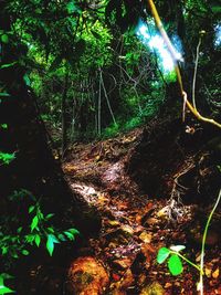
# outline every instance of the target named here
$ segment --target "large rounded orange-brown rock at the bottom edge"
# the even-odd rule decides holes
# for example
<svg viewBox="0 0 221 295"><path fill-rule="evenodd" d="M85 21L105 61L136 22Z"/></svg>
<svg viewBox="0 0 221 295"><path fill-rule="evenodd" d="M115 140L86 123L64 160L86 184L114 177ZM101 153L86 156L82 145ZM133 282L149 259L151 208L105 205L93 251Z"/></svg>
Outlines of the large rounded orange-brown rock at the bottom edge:
<svg viewBox="0 0 221 295"><path fill-rule="evenodd" d="M109 284L105 268L94 257L78 257L70 266L67 294L99 295Z"/></svg>

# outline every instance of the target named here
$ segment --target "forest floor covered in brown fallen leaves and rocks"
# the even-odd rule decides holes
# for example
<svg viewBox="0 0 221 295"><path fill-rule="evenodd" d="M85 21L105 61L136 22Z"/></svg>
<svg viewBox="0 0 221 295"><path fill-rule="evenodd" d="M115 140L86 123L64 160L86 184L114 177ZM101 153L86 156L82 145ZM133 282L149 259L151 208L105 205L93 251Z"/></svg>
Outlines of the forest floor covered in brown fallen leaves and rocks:
<svg viewBox="0 0 221 295"><path fill-rule="evenodd" d="M88 238L76 249L65 294L198 294L198 270L183 263L182 274L172 276L167 263L158 264L156 257L162 246L185 245L182 254L199 265L206 217L217 196L202 206L188 198L194 194L193 186L208 187L204 179L214 167L207 152L200 155L199 168L196 150L183 150L180 144L160 148L155 146L158 139L152 144L152 133L146 134L137 128L113 139L74 145L69 151L63 170L92 228L87 222L83 230ZM221 294L219 226L217 213L206 244L204 295Z"/></svg>

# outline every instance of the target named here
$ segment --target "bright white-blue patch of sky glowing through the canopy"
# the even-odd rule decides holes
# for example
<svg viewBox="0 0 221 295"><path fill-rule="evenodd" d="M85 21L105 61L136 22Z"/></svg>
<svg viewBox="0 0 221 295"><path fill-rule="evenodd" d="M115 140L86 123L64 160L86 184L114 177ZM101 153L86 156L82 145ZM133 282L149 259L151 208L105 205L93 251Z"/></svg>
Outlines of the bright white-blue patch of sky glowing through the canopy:
<svg viewBox="0 0 221 295"><path fill-rule="evenodd" d="M151 30L151 33L149 33L149 30ZM165 41L152 27L151 29L149 29L146 23L139 21L136 34L145 45L148 45L150 50L157 53L157 56L160 61L160 65L164 72L168 73L173 71L175 62L165 44ZM177 48L180 48L181 50L181 45L178 38L175 38L173 42L177 44ZM177 53L176 56L177 61L182 61L181 53L178 52L177 50L176 53Z"/></svg>

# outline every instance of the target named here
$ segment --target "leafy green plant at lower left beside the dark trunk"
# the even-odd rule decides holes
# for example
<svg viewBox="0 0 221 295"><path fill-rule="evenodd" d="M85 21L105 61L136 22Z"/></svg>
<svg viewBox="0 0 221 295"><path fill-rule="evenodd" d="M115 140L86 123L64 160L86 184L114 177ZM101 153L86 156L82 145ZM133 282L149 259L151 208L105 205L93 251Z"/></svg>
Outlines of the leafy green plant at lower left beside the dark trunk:
<svg viewBox="0 0 221 295"><path fill-rule="evenodd" d="M23 218L7 214L0 220L0 249L2 257L7 261L18 259L21 255L29 255L32 246L39 247L43 243L52 256L55 243L74 241L75 235L78 234L75 229L65 231L56 229L52 221L54 214L44 214L40 202L27 190L14 191L9 200L22 207L22 202L28 201L27 198L31 199L32 203L27 209L28 212L23 211Z"/></svg>

